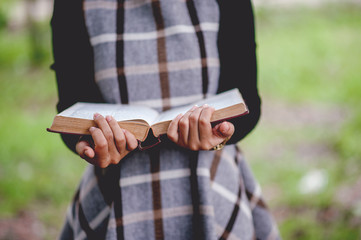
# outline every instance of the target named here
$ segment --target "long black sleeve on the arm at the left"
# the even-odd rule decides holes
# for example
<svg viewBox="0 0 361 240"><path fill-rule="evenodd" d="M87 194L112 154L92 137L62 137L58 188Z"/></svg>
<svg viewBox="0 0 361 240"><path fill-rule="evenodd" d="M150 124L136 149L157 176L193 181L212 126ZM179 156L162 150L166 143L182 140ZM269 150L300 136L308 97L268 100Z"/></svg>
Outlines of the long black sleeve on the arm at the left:
<svg viewBox="0 0 361 240"><path fill-rule="evenodd" d="M51 19L54 64L58 85L58 112L76 102L101 102L94 81L93 53L86 32L81 0L55 0ZM62 135L75 151L77 136Z"/></svg>

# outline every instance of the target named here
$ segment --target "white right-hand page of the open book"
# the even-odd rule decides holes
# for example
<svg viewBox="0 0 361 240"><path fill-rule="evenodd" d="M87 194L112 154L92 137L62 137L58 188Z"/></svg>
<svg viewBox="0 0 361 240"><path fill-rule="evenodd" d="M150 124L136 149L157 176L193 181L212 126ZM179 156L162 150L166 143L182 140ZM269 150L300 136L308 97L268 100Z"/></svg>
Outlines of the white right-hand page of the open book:
<svg viewBox="0 0 361 240"><path fill-rule="evenodd" d="M171 110L167 110L159 114L156 118L155 122L163 122L167 120L173 120L178 114L186 113L189 109L191 109L194 105L202 106L204 104L208 104L209 106L214 107L216 110L226 108L238 103L244 103L244 100L239 93L238 89L232 89L209 98L194 102L193 104L186 105L183 107L173 108Z"/></svg>

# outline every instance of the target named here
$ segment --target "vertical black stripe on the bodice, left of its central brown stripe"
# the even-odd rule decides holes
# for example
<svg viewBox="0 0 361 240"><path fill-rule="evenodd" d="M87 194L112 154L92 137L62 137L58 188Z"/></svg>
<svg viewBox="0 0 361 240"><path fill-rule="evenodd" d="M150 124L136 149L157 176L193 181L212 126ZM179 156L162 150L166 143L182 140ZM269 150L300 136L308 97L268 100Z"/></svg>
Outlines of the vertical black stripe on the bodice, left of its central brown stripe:
<svg viewBox="0 0 361 240"><path fill-rule="evenodd" d="M122 35L124 33L124 0L117 0L118 8L117 8L117 35ZM116 42L116 62L117 69L122 69L124 67L124 41L120 39ZM118 84L119 84L119 92L120 99L123 104L129 103L128 99L128 87L125 75L118 74Z"/></svg>

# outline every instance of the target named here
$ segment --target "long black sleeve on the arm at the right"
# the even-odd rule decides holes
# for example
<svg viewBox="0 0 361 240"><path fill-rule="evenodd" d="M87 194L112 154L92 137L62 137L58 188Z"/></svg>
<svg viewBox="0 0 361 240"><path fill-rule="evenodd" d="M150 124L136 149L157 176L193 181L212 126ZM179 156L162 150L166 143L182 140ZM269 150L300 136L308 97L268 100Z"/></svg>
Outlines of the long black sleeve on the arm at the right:
<svg viewBox="0 0 361 240"><path fill-rule="evenodd" d="M218 1L220 29L218 49L221 63L218 92L238 88L250 113L236 121L235 133L228 143L243 139L256 126L260 117L257 90L256 43L251 2Z"/></svg>

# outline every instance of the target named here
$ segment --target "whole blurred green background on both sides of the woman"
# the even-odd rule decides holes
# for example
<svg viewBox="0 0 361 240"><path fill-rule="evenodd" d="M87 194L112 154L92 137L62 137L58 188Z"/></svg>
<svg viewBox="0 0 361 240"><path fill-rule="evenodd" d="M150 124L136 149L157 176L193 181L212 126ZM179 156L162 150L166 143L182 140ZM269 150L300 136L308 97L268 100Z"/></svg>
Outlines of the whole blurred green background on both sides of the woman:
<svg viewBox="0 0 361 240"><path fill-rule="evenodd" d="M239 144L284 239L360 239L361 4L319 1L256 2L263 115ZM0 3L0 240L56 238L86 166L45 131L51 5Z"/></svg>

